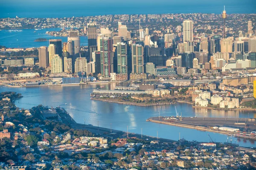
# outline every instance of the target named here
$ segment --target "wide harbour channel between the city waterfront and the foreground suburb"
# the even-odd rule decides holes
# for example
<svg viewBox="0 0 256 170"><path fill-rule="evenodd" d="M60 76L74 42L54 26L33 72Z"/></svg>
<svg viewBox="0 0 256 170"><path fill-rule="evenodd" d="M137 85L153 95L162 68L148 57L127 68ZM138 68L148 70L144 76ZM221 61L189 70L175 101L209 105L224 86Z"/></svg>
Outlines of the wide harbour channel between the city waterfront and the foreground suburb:
<svg viewBox="0 0 256 170"><path fill-rule="evenodd" d="M24 97L18 99L15 104L19 108L32 108L36 105L48 105L52 107L61 106L70 113L73 119L82 124L99 125L116 130L141 133L149 136L158 136L166 139L179 139L181 137L189 141L209 142L209 136L216 142L227 142L227 135L175 127L170 125L146 122L149 117L175 116L175 106L182 116L197 117L256 117L255 112L248 111L216 111L208 109L195 109L188 104L164 105L139 107L122 105L116 103L100 102L90 100L90 93L93 89L99 88L102 84L74 85L74 86L51 86L37 88L8 88L0 87L2 91L15 91ZM116 84L104 84L105 89L114 89ZM65 105L67 103L67 105ZM229 137L229 142L230 137ZM244 147L255 147L254 141L233 138L232 143L239 143Z"/></svg>

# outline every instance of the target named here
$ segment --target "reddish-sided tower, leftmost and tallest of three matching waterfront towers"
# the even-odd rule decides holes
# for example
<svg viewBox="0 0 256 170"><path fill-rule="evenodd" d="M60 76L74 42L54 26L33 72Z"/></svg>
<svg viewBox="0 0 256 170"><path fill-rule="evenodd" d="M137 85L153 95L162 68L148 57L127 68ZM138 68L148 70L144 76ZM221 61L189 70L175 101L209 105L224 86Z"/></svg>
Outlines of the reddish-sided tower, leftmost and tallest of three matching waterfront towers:
<svg viewBox="0 0 256 170"><path fill-rule="evenodd" d="M113 73L113 39L100 39L100 61L102 76L110 76Z"/></svg>

